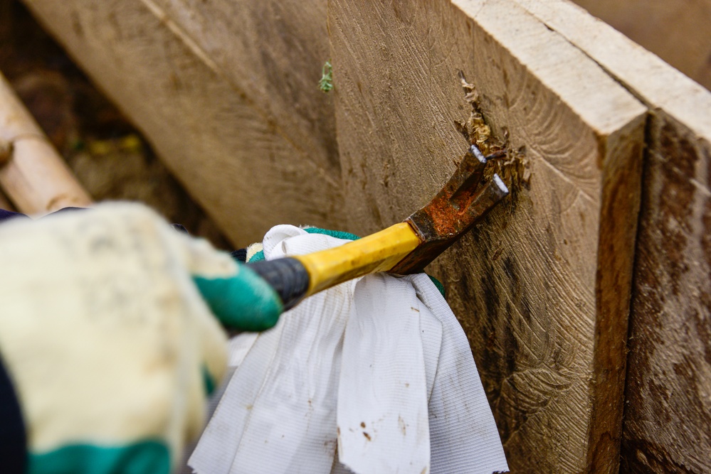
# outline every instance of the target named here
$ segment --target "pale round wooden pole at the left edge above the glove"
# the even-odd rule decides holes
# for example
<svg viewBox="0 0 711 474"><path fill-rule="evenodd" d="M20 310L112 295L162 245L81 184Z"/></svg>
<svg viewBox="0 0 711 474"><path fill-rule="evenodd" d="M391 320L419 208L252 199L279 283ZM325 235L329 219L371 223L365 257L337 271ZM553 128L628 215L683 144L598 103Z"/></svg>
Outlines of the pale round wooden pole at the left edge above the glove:
<svg viewBox="0 0 711 474"><path fill-rule="evenodd" d="M0 186L27 214L92 203L1 73Z"/></svg>

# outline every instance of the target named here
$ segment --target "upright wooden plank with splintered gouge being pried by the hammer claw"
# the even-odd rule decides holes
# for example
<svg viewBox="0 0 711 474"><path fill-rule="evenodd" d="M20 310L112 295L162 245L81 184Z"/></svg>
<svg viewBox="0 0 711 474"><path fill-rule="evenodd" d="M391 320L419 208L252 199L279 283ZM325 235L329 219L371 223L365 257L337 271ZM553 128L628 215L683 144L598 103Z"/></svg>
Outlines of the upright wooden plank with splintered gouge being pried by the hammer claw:
<svg viewBox="0 0 711 474"><path fill-rule="evenodd" d="M512 472L616 472L646 108L507 0L332 0L329 28L352 231L401 220L452 173L472 111L457 70L525 153L527 183L432 270Z"/></svg>

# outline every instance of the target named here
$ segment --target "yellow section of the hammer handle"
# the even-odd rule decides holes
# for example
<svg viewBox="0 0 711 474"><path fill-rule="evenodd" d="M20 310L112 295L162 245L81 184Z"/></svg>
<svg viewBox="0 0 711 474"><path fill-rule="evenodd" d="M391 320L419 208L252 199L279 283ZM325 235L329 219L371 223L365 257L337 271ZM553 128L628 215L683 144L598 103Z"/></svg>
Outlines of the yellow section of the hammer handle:
<svg viewBox="0 0 711 474"><path fill-rule="evenodd" d="M400 222L340 247L293 258L305 266L310 276L306 296L311 296L358 276L388 271L420 242L412 227Z"/></svg>

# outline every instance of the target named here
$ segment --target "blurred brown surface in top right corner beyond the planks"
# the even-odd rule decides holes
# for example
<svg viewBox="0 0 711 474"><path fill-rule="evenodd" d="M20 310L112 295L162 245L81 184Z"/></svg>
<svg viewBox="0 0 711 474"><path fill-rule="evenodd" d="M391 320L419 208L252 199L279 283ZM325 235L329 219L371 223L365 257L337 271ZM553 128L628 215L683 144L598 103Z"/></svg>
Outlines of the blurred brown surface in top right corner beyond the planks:
<svg viewBox="0 0 711 474"><path fill-rule="evenodd" d="M711 89L711 0L574 0Z"/></svg>

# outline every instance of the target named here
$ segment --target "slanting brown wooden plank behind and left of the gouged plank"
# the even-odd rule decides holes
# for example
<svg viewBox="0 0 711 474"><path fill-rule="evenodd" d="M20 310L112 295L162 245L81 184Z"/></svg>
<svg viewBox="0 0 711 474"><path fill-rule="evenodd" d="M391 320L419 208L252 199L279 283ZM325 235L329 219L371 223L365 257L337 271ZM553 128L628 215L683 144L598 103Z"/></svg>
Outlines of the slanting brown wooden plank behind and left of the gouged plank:
<svg viewBox="0 0 711 474"><path fill-rule="evenodd" d="M26 4L234 244L339 227L324 1Z"/></svg>

